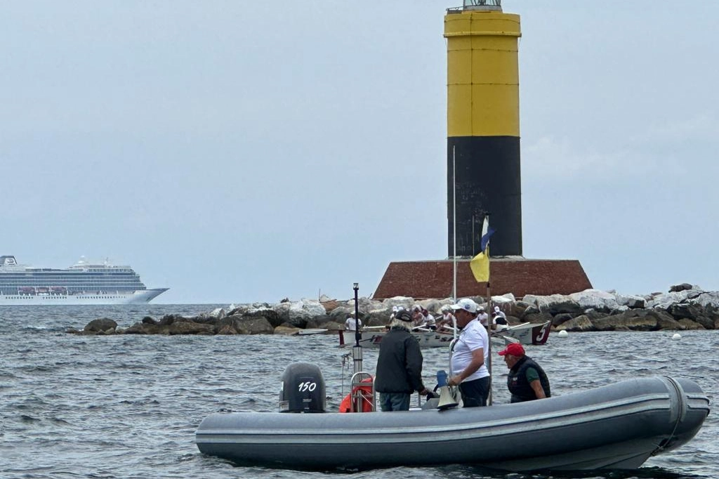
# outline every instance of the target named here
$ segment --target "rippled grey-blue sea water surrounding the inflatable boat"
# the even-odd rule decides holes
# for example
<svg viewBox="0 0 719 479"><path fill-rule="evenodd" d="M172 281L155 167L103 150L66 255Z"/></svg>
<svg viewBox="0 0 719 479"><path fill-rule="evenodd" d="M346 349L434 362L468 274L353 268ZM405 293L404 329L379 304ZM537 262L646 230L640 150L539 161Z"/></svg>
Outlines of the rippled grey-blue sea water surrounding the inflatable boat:
<svg viewBox="0 0 719 479"><path fill-rule="evenodd" d="M226 306L226 305L221 305ZM194 432L220 409L274 411L286 365L321 368L330 408L342 399L343 370L334 336L109 336L65 334L91 319L127 327L142 316L191 316L214 305L0 307L0 478L719 478L719 424L714 411L677 451L640 470L569 475L497 475L477 467L395 467L362 473L306 473L238 467L203 457ZM719 331L552 334L528 348L561 395L636 375L695 380L715 408L714 358ZM423 350L425 378L446 369L444 348ZM508 402L497 355L495 402ZM364 350L365 369L377 352ZM362 446L358 445L361 452Z"/></svg>

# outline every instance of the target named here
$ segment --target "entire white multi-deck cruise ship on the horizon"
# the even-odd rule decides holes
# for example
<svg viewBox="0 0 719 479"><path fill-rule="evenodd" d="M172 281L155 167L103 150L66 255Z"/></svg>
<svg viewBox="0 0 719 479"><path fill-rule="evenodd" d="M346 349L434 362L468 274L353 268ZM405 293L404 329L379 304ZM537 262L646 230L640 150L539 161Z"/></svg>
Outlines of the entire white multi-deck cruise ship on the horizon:
<svg viewBox="0 0 719 479"><path fill-rule="evenodd" d="M144 304L165 291L146 288L129 266L81 258L67 269L35 268L0 256L0 306Z"/></svg>

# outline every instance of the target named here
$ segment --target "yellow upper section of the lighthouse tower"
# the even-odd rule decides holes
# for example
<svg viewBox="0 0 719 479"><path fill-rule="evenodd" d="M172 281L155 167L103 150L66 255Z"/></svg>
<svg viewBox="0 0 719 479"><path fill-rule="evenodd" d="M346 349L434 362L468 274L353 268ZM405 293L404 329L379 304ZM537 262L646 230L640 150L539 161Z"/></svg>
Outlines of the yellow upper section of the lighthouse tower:
<svg viewBox="0 0 719 479"><path fill-rule="evenodd" d="M450 10L447 136L519 136L519 15Z"/></svg>

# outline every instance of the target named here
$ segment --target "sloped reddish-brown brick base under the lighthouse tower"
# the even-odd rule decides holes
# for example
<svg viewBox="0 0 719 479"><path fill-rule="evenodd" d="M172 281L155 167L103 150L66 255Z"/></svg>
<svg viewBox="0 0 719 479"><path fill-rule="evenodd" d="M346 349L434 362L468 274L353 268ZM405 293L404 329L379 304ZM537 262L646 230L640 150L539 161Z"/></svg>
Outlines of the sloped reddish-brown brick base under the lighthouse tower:
<svg viewBox="0 0 719 479"><path fill-rule="evenodd" d="M449 298L453 277L453 260L393 262L372 297ZM577 293L592 288L592 283L578 260L502 257L490 259L490 286L493 295L513 293L521 298ZM457 260L457 298L486 295L487 283L477 283L470 260Z"/></svg>

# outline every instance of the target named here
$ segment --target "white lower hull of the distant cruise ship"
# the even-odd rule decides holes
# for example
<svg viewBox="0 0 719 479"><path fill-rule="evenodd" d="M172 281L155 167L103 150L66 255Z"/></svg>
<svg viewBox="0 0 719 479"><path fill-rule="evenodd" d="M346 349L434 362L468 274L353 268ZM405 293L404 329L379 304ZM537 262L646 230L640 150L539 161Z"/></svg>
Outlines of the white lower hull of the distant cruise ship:
<svg viewBox="0 0 719 479"><path fill-rule="evenodd" d="M143 289L141 291L93 291L77 294L53 294L19 296L0 294L0 306L69 306L106 305L106 304L146 304L168 288Z"/></svg>

